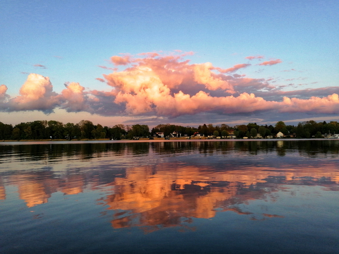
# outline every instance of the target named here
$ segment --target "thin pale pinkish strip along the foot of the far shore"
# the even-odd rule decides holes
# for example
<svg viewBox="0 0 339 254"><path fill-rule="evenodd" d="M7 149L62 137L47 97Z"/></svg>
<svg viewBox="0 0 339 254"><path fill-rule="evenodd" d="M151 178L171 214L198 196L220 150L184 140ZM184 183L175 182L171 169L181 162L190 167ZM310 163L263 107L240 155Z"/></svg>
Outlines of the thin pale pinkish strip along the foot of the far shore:
<svg viewBox="0 0 339 254"><path fill-rule="evenodd" d="M49 145L49 144L101 144L101 143L159 143L159 142L267 142L267 141L309 141L339 139L203 139L203 140L83 140L83 141L3 141L0 145Z"/></svg>

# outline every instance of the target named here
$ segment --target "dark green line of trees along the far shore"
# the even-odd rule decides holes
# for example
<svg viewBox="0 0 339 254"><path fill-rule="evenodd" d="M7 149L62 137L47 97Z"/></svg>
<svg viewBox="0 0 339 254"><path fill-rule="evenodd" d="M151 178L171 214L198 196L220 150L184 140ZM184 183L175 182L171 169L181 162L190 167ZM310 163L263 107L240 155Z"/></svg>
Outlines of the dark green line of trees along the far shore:
<svg viewBox="0 0 339 254"><path fill-rule="evenodd" d="M169 136L174 131L192 136L198 132L207 136L212 132L214 136L227 136L230 131L236 137L255 137L259 133L262 137L275 136L278 132L285 135L296 134L297 138L322 137L324 133L339 133L339 123L306 121L300 122L297 126L286 125L279 121L273 125L257 125L248 123L247 125L229 126L227 124L213 125L203 124L198 128L190 126L180 126L171 124L159 124L149 130L148 125L123 125L117 124L113 127L94 125L91 121L81 120L79 123L63 124L59 121L34 121L16 124L4 124L0 122L1 140L43 140L43 139L133 139L133 137L152 137L157 132L164 132L164 136Z"/></svg>

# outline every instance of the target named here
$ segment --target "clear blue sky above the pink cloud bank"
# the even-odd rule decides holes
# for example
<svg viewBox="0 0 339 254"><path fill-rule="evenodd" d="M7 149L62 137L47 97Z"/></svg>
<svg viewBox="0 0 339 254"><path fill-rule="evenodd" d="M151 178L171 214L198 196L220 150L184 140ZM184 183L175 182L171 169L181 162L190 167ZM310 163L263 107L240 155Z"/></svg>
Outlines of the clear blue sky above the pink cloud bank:
<svg viewBox="0 0 339 254"><path fill-rule="evenodd" d="M190 63L221 68L247 63L247 56L281 59L243 72L281 85L291 83L286 79L306 84L285 91L338 86L338 7L338 1L3 0L0 84L13 97L27 73L37 73L49 77L56 92L73 81L108 91L95 78L112 72L98 67L109 66L111 56L180 49L195 53Z"/></svg>

